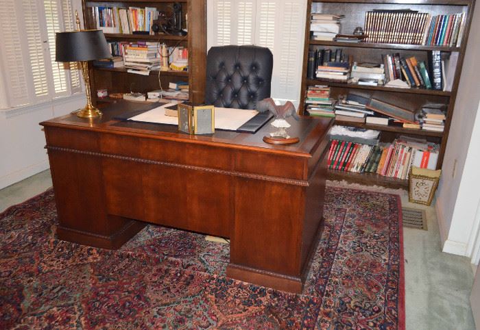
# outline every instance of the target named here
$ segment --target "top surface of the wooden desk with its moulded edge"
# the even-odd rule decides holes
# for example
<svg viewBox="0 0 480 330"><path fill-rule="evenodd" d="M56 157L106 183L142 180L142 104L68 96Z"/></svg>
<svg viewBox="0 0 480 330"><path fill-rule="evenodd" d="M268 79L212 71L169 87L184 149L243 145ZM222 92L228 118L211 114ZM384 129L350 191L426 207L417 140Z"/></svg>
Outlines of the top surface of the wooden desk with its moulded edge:
<svg viewBox="0 0 480 330"><path fill-rule="evenodd" d="M137 123L115 119L116 116L125 112L144 109L149 110L158 107L158 103L138 103L117 101L103 108L103 116L100 118L79 118L74 114L68 114L40 123L45 127L64 127L83 131L98 131L110 134L141 136L144 138L158 138L164 140L182 140L183 142L201 144L229 144L229 147L241 149L263 149L275 153L295 153L296 155L311 155L320 142L326 138L328 130L333 125L330 118L313 118L301 116L300 120L288 118L291 127L287 129L290 136L300 138L300 142L289 145L267 144L263 142L263 136L276 131L275 127L265 124L256 134L238 133L235 131L215 131L209 135L189 135L178 131L174 125L162 125L154 123Z"/></svg>

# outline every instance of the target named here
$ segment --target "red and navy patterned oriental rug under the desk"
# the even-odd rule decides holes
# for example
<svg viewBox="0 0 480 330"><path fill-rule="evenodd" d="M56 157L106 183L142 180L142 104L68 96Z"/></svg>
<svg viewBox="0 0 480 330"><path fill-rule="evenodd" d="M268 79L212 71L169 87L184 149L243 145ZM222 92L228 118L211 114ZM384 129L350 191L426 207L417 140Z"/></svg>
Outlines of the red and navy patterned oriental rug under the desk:
<svg viewBox="0 0 480 330"><path fill-rule="evenodd" d="M149 225L118 251L56 239L53 190L0 214L0 329L405 329L400 200L327 187L302 294L226 277L228 244Z"/></svg>

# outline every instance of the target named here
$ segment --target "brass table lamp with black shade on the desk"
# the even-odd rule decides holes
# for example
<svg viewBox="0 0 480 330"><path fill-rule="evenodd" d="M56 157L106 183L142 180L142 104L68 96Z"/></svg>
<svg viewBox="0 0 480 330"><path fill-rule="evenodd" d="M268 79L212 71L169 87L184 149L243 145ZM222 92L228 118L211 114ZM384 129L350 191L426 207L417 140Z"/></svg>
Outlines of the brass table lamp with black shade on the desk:
<svg viewBox="0 0 480 330"><path fill-rule="evenodd" d="M55 36L56 62L80 62L85 81L86 106L77 112L82 118L101 116L101 111L92 104L88 61L111 58L107 40L101 30L81 30L77 13L77 31L58 32Z"/></svg>

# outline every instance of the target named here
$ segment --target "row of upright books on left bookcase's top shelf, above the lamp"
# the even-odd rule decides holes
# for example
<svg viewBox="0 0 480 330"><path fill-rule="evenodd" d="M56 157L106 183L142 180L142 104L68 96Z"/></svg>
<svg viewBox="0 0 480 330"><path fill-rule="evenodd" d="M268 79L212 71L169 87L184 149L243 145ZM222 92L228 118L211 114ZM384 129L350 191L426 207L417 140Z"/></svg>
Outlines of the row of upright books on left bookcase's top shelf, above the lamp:
<svg viewBox="0 0 480 330"><path fill-rule="evenodd" d="M110 34L132 34L134 31L154 34L152 25L159 14L153 7L91 7L90 12L97 29Z"/></svg>

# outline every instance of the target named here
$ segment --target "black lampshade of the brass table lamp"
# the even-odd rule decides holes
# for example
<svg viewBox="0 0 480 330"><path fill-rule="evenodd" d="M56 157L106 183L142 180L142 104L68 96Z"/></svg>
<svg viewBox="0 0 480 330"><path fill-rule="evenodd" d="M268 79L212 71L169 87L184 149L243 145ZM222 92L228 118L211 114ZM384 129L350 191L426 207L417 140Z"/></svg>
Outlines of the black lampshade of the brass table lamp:
<svg viewBox="0 0 480 330"><path fill-rule="evenodd" d="M101 30L58 32L55 44L56 62L82 62L112 57Z"/></svg>

